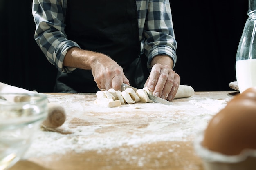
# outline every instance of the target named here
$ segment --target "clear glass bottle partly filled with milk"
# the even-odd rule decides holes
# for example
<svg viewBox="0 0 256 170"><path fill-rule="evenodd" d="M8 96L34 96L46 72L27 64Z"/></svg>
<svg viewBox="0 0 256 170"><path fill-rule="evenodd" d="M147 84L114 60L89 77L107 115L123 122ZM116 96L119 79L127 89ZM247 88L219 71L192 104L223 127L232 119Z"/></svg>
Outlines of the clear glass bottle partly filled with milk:
<svg viewBox="0 0 256 170"><path fill-rule="evenodd" d="M247 15L236 53L236 80L240 93L256 86L256 0L249 0Z"/></svg>

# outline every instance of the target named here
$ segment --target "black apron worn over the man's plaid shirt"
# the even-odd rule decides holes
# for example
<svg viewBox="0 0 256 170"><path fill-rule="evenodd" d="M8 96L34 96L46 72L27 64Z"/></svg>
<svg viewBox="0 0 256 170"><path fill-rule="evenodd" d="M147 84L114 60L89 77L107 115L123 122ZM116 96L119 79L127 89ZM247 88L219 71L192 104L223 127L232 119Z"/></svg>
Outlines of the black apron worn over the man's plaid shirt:
<svg viewBox="0 0 256 170"><path fill-rule="evenodd" d="M143 88L137 21L136 0L68 0L65 32L81 49L110 56L132 86ZM97 92L93 79L91 70L59 72L55 92Z"/></svg>

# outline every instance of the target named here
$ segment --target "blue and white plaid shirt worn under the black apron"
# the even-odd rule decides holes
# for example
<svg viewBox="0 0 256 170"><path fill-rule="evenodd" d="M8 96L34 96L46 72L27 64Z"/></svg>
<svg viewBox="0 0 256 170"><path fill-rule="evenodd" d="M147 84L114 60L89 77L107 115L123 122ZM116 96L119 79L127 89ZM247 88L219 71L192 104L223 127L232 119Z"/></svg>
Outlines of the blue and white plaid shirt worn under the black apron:
<svg viewBox="0 0 256 170"><path fill-rule="evenodd" d="M136 0L136 4L141 53L148 57L148 68L156 55L168 55L175 64L177 42L169 0ZM79 45L65 34L66 8L67 0L33 0L32 13L36 43L58 71L70 73L76 68L63 67L63 60L69 48Z"/></svg>

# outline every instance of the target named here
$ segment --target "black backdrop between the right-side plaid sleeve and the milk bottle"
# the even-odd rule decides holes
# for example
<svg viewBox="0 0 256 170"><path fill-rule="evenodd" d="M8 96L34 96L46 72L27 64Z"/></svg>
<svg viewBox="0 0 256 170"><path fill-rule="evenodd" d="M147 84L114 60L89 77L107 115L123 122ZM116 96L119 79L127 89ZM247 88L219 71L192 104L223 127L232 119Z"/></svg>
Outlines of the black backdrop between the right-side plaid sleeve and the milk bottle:
<svg viewBox="0 0 256 170"><path fill-rule="evenodd" d="M229 91L236 50L247 20L247 0L171 2L181 84L196 91Z"/></svg>

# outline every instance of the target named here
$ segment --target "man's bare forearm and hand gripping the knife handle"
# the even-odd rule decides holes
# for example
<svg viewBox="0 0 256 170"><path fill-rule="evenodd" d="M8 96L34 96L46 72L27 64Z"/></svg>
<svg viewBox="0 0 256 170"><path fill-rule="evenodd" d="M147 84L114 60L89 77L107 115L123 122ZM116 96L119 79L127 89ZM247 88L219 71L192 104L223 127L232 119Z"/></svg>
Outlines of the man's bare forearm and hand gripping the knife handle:
<svg viewBox="0 0 256 170"><path fill-rule="evenodd" d="M93 51L70 48L65 55L63 66L92 70L94 81L101 91L114 88L121 90L121 84L129 84L123 68L107 55Z"/></svg>

